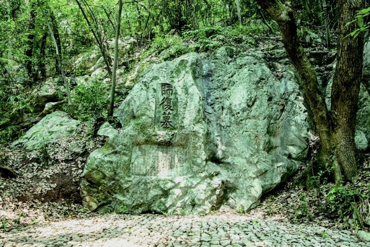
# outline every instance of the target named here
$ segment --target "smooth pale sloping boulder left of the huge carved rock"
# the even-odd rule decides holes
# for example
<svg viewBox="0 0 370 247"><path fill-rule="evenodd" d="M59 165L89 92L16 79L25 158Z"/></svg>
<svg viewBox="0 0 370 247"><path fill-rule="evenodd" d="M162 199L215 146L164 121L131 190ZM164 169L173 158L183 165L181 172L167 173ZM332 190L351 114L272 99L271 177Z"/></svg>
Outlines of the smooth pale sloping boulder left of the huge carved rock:
<svg viewBox="0 0 370 247"><path fill-rule="evenodd" d="M80 121L70 119L67 113L55 111L30 128L21 138L11 144L33 150L53 143L61 137L69 136L80 125Z"/></svg>

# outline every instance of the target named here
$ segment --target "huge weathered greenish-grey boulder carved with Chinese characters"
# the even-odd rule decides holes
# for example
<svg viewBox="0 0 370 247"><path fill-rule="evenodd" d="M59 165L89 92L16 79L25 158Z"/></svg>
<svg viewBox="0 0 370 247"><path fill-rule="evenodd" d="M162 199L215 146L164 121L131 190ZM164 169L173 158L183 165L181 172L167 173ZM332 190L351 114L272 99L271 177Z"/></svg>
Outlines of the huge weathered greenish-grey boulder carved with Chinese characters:
<svg viewBox="0 0 370 247"><path fill-rule="evenodd" d="M248 210L307 154L306 109L294 73L258 52L188 53L151 65L85 166L84 204L99 212L206 214Z"/></svg>

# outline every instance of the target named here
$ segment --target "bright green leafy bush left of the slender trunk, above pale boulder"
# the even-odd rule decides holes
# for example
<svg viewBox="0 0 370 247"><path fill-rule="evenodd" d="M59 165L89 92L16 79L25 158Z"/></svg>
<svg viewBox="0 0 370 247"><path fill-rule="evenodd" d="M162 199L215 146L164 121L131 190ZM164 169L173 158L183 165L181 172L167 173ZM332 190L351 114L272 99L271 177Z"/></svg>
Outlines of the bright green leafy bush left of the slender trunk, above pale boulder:
<svg viewBox="0 0 370 247"><path fill-rule="evenodd" d="M88 85L80 84L72 94L73 107L79 120L87 121L104 117L107 111L107 89L98 81ZM65 110L69 111L68 105Z"/></svg>

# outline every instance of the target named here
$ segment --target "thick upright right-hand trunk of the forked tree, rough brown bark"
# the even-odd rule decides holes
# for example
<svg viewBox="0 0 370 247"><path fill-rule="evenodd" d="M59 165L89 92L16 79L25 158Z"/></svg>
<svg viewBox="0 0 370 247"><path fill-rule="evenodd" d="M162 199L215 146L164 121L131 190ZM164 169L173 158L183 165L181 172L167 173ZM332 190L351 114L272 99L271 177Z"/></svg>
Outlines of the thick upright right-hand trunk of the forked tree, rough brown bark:
<svg viewBox="0 0 370 247"><path fill-rule="evenodd" d="M358 173L355 146L357 102L362 80L364 34L346 37L357 28L352 22L365 0L338 0L338 57L332 86L331 112L335 116L334 142L336 157L346 179L353 180Z"/></svg>

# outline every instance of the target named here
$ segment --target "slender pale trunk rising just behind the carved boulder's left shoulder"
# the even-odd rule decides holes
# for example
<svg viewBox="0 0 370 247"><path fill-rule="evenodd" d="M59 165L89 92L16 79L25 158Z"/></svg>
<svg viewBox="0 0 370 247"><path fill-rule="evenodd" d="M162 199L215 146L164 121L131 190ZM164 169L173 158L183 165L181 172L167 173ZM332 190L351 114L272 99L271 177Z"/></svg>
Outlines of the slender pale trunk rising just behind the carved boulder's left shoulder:
<svg viewBox="0 0 370 247"><path fill-rule="evenodd" d="M117 29L116 29L116 38L115 38L115 56L113 60L113 74L112 74L112 88L111 88L111 103L109 105L108 117L113 116L113 109L115 104L115 92L116 92L116 70L117 70L117 61L118 61L118 41L120 38L121 30L121 13L122 13L122 0L118 1L118 14L117 14Z"/></svg>

